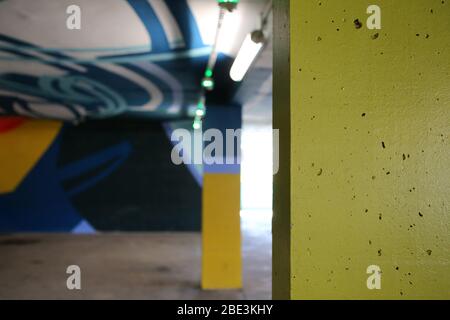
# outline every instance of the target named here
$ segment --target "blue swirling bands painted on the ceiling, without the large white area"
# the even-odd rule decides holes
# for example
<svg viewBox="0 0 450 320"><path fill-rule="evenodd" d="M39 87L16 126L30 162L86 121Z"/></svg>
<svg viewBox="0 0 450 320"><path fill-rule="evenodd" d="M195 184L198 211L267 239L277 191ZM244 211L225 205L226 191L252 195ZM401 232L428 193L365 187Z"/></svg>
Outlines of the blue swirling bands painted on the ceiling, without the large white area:
<svg viewBox="0 0 450 320"><path fill-rule="evenodd" d="M128 0L128 4L152 40L151 46L128 49L144 51L116 54L118 49L127 48L99 48L94 49L98 53L94 57L77 58L68 53L88 49L42 48L0 34L0 53L7 54L1 55L0 61L28 61L61 73L0 73L0 89L7 92L0 95L0 113L74 122L117 115L167 118L182 114L198 89L190 87L191 77L185 81L186 90L179 79L171 76L172 67L180 70L180 63L186 66L192 59L206 61L210 48L203 44L186 0L158 3L166 6L179 25L183 47L178 41L176 48L154 4L144 0ZM186 91L191 94L184 96Z"/></svg>

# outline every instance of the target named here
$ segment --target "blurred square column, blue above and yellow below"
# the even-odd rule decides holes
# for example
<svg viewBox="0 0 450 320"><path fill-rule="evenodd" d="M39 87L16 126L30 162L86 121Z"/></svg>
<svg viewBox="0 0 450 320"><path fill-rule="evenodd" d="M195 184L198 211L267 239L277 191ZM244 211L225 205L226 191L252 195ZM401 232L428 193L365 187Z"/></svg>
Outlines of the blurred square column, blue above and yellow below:
<svg viewBox="0 0 450 320"><path fill-rule="evenodd" d="M238 107L211 107L203 122L204 138L210 140L205 142L204 149L205 161L210 163L203 165L203 289L242 287L240 138L231 135L240 128L241 108ZM215 148L213 153L212 148Z"/></svg>

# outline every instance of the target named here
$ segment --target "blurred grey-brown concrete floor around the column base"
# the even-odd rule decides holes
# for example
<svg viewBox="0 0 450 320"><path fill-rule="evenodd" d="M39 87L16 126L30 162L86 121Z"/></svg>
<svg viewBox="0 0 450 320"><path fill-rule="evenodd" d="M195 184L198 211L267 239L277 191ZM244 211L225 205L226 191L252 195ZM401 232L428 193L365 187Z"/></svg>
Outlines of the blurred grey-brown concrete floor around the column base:
<svg viewBox="0 0 450 320"><path fill-rule="evenodd" d="M0 299L270 299L270 221L246 215L242 235L244 288L203 291L199 233L3 234Z"/></svg>

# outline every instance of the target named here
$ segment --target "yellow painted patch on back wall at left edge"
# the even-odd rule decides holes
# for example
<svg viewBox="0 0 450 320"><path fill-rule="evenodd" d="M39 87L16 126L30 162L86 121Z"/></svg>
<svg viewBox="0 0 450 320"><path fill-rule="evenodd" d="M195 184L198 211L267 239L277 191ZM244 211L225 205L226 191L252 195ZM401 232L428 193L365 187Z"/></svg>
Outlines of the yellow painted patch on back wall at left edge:
<svg viewBox="0 0 450 320"><path fill-rule="evenodd" d="M0 134L0 194L14 191L59 133L62 123L29 120Z"/></svg>

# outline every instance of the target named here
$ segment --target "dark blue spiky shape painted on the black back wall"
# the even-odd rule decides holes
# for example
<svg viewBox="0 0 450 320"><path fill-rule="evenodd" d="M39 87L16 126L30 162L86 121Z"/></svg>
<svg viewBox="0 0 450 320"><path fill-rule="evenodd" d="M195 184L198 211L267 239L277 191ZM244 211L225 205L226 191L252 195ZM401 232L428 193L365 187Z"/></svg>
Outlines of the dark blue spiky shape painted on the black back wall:
<svg viewBox="0 0 450 320"><path fill-rule="evenodd" d="M121 142L58 167L60 143L60 138L55 140L13 193L0 195L0 232L92 231L73 207L71 198L117 170L130 156L131 145ZM91 174L83 178L86 173ZM76 182L64 188L64 183L70 181Z"/></svg>

